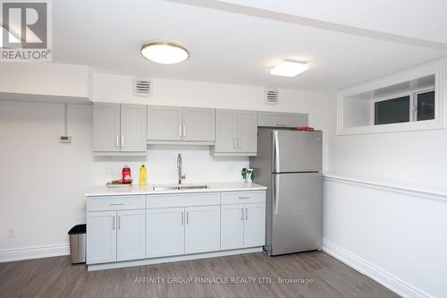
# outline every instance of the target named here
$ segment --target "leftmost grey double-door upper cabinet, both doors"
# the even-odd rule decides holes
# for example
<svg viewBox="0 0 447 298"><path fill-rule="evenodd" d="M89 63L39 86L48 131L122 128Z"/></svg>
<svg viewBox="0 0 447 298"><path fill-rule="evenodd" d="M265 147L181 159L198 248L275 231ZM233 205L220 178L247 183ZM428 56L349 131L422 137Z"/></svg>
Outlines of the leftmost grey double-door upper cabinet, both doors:
<svg viewBox="0 0 447 298"><path fill-rule="evenodd" d="M146 106L95 103L93 151L97 155L146 154Z"/></svg>

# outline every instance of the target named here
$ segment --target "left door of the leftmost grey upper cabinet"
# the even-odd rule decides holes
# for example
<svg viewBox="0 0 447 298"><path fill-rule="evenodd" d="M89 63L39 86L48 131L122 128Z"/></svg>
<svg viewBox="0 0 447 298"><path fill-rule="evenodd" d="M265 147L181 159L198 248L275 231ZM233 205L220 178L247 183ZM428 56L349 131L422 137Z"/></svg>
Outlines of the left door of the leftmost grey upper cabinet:
<svg viewBox="0 0 447 298"><path fill-rule="evenodd" d="M93 151L120 151L120 105L93 104Z"/></svg>

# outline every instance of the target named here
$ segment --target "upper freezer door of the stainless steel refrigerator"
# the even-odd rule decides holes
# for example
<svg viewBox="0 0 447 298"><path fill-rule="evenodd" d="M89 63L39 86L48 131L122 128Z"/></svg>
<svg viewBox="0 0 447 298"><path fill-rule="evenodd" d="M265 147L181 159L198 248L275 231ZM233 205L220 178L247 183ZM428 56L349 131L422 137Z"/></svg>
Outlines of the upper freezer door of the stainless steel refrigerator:
<svg viewBox="0 0 447 298"><path fill-rule="evenodd" d="M273 131L273 173L319 172L322 132Z"/></svg>

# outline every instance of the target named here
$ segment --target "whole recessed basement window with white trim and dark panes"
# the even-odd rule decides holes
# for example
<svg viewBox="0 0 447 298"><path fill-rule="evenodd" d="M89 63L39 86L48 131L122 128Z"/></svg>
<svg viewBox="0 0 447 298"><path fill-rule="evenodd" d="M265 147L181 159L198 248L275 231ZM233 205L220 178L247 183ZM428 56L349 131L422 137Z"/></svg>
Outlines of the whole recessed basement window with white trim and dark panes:
<svg viewBox="0 0 447 298"><path fill-rule="evenodd" d="M444 128L446 64L425 64L340 91L337 134Z"/></svg>

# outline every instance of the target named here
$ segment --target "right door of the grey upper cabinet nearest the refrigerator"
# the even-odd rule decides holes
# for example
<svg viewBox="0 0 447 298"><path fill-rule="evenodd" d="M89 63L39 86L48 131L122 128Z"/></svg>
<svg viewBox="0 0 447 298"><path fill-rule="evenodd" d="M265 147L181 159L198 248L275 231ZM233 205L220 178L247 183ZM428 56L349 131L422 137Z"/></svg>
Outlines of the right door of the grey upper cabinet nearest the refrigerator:
<svg viewBox="0 0 447 298"><path fill-rule="evenodd" d="M239 152L257 152L257 113L240 111L238 115L239 133L237 148Z"/></svg>

